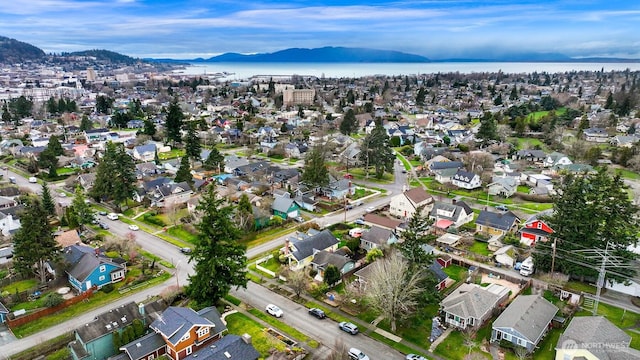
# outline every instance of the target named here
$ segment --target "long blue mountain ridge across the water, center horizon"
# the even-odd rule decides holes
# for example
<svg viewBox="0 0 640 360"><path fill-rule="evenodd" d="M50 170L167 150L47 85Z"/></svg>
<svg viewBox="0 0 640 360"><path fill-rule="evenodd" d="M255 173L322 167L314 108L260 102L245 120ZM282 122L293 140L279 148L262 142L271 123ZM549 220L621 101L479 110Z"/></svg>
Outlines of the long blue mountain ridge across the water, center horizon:
<svg viewBox="0 0 640 360"><path fill-rule="evenodd" d="M291 48L274 53L243 55L225 53L209 59L193 59L193 62L319 62L319 63L415 63L429 62L424 56L400 51L365 48L323 47L316 49Z"/></svg>

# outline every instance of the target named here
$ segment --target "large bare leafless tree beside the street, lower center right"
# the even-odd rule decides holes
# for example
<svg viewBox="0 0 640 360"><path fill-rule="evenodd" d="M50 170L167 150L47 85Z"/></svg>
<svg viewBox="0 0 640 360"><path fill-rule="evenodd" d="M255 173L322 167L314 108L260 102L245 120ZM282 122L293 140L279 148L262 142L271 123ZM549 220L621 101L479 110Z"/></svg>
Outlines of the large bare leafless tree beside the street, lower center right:
<svg viewBox="0 0 640 360"><path fill-rule="evenodd" d="M417 298L424 274L409 271L409 264L398 253L376 261L367 280L366 297L369 304L391 323L396 332L397 322L412 315L418 304Z"/></svg>

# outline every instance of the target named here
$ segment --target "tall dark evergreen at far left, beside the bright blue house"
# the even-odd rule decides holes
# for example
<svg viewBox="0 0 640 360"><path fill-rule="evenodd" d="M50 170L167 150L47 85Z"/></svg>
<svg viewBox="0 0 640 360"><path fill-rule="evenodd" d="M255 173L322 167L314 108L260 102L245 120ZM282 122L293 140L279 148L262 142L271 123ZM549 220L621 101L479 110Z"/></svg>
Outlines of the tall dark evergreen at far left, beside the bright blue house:
<svg viewBox="0 0 640 360"><path fill-rule="evenodd" d="M31 199L20 216L20 229L13 236L15 269L25 275L34 272L42 284L47 281L47 262L56 261L60 251L47 215L42 202Z"/></svg>

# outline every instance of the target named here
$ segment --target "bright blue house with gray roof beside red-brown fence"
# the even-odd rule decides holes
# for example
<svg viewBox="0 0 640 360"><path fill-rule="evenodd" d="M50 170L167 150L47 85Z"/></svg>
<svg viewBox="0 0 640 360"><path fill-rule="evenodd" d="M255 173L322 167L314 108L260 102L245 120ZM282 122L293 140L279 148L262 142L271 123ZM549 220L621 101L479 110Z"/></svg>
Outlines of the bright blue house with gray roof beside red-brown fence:
<svg viewBox="0 0 640 360"><path fill-rule="evenodd" d="M108 258L99 249L85 245L68 246L65 258L71 264L67 270L69 283L79 292L122 281L127 271L124 260Z"/></svg>

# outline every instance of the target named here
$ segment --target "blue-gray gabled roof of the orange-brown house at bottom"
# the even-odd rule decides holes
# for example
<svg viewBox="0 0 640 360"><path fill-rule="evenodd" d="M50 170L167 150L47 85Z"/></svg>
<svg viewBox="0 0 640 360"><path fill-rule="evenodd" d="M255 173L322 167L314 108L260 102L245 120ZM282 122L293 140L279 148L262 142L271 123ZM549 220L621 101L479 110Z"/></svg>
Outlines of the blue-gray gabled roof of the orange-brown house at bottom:
<svg viewBox="0 0 640 360"><path fill-rule="evenodd" d="M157 320L149 325L150 328L165 336L167 341L173 345L178 344L180 339L189 333L194 326L214 327L215 324L211 320L199 315L193 309L171 306L168 307ZM211 331L211 333L216 333L217 330L218 329Z"/></svg>

